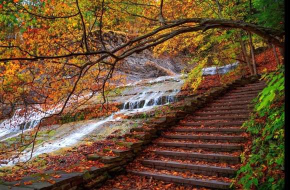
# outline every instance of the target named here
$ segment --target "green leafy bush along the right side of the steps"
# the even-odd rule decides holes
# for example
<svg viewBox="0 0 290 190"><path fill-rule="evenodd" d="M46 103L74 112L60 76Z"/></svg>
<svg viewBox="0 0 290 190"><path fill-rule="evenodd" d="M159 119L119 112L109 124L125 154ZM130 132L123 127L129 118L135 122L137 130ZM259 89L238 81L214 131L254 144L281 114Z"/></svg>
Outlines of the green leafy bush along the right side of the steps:
<svg viewBox="0 0 290 190"><path fill-rule="evenodd" d="M254 112L243 124L253 136L247 163L237 171L243 189L284 189L284 68L263 76Z"/></svg>

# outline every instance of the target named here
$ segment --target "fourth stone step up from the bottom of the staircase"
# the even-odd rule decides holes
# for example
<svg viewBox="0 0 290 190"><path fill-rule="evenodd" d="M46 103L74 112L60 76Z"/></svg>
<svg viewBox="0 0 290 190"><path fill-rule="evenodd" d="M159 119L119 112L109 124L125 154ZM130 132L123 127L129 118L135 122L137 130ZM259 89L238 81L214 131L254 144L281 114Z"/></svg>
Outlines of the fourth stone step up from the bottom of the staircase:
<svg viewBox="0 0 290 190"><path fill-rule="evenodd" d="M206 143L186 143L186 142L155 142L158 146L172 146L183 148L202 148L211 150L243 150L242 144L206 144Z"/></svg>

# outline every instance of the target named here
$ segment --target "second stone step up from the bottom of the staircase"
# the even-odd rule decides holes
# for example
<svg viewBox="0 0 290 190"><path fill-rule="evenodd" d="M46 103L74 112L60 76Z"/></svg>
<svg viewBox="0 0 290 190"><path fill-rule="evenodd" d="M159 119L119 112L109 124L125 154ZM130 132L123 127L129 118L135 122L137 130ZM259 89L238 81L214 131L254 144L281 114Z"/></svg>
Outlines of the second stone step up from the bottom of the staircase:
<svg viewBox="0 0 290 190"><path fill-rule="evenodd" d="M153 167L155 169L167 169L174 171L190 171L193 173L198 173L202 175L218 175L218 176L234 176L236 170L230 167L217 167L212 165L200 165L200 164L188 164L179 163L177 161L163 161L163 160L151 160L143 159L140 162L146 167Z"/></svg>

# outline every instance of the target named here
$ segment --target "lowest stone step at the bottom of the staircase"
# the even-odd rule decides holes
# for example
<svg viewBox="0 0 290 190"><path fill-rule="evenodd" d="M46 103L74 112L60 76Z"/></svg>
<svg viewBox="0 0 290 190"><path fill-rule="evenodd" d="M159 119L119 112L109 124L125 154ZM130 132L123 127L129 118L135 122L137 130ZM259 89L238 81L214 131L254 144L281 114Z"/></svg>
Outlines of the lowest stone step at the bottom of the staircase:
<svg viewBox="0 0 290 190"><path fill-rule="evenodd" d="M152 177L153 179L167 181L167 182L175 182L189 185L197 185L204 186L210 188L218 188L218 189L228 189L230 183L222 182L217 180L207 180L207 179L197 179L197 178L183 178L182 176L169 175L169 174L158 174L148 171L129 171L132 174Z"/></svg>

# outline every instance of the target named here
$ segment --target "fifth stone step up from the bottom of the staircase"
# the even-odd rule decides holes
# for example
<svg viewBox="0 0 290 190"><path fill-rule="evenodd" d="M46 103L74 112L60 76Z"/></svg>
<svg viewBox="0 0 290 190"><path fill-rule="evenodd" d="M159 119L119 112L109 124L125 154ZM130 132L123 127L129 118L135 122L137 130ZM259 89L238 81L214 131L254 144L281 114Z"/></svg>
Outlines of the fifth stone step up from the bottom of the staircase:
<svg viewBox="0 0 290 190"><path fill-rule="evenodd" d="M234 141L243 141L246 139L245 136L219 136L219 135L186 135L186 134L164 134L164 138L173 138L173 139L194 139L194 140L234 140Z"/></svg>

